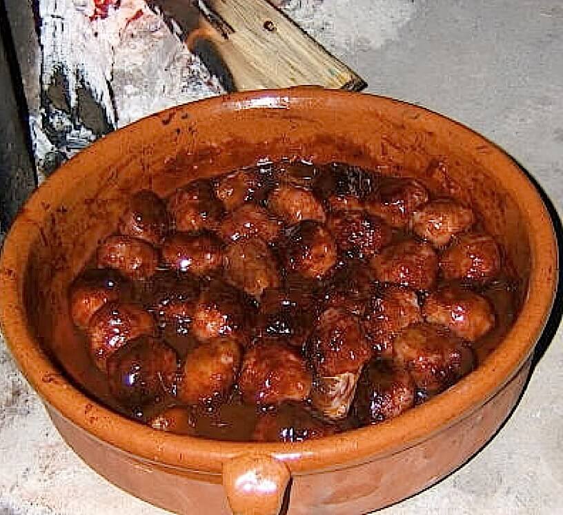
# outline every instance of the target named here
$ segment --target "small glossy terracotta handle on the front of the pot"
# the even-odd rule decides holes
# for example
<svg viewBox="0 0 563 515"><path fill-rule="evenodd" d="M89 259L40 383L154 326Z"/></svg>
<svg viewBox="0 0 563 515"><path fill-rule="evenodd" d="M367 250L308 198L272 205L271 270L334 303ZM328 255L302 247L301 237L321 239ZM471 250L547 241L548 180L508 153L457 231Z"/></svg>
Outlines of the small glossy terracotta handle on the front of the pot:
<svg viewBox="0 0 563 515"><path fill-rule="evenodd" d="M234 515L278 515L289 480L287 465L266 454L243 454L223 465Z"/></svg>

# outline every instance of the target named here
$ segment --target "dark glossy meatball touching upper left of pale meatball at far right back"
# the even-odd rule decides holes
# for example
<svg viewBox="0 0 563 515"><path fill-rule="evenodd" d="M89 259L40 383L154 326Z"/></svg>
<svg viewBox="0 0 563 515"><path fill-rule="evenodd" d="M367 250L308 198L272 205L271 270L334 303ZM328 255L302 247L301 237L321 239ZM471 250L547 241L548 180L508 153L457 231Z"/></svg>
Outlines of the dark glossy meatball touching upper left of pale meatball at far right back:
<svg viewBox="0 0 563 515"><path fill-rule="evenodd" d="M393 227L404 227L413 212L428 202L428 191L413 179L390 177L366 200L366 209Z"/></svg>

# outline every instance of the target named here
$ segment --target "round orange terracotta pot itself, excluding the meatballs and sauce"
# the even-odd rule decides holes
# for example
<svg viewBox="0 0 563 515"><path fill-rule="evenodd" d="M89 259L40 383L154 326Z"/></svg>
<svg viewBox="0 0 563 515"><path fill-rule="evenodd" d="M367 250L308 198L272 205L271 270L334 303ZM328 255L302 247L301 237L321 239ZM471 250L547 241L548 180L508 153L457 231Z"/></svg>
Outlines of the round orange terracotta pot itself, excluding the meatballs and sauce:
<svg viewBox="0 0 563 515"><path fill-rule="evenodd" d="M524 295L512 329L451 389L373 427L300 444L225 443L153 431L83 393L66 290L140 188L166 195L194 177L299 155L415 175L482 214ZM441 162L442 164L437 164ZM80 153L39 188L1 257L1 322L19 367L63 438L128 492L175 512L368 512L419 492L464 463L515 404L557 279L551 220L502 150L422 108L337 91L240 93L159 113ZM62 320L62 322L61 322ZM64 322L64 321L67 322ZM79 356L77 347L76 356ZM57 359L58 356L58 359ZM406 472L408 471L408 472Z"/></svg>

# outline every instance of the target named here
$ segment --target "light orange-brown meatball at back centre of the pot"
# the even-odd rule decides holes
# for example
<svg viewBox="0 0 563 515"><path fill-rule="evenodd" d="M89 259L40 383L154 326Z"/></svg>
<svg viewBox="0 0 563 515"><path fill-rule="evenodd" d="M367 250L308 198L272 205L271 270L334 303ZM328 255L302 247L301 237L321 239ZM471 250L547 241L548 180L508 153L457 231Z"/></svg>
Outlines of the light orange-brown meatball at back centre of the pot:
<svg viewBox="0 0 563 515"><path fill-rule="evenodd" d="M302 186L280 184L268 197L268 208L288 225L302 220L324 222L326 216L313 192Z"/></svg>

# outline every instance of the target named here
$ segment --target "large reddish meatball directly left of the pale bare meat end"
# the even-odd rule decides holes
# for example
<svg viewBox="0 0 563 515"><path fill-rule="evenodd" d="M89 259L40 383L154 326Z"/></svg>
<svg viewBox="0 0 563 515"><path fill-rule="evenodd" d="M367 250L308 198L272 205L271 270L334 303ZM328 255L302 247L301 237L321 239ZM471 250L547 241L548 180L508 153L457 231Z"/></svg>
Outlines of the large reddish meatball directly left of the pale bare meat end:
<svg viewBox="0 0 563 515"><path fill-rule="evenodd" d="M259 343L242 360L239 390L245 402L259 405L309 396L311 373L299 352L281 343Z"/></svg>

